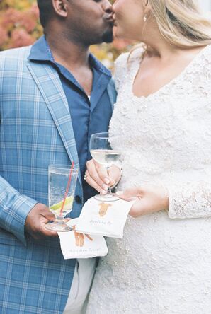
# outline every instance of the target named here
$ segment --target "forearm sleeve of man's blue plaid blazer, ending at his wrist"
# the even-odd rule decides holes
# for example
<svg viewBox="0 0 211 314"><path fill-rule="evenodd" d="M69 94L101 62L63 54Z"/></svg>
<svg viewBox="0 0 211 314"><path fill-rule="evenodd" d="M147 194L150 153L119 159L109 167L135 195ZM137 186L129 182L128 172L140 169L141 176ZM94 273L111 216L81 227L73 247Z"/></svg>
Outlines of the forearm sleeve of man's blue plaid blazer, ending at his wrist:
<svg viewBox="0 0 211 314"><path fill-rule="evenodd" d="M37 203L20 194L0 176L0 227L13 233L23 245L26 245L25 219Z"/></svg>

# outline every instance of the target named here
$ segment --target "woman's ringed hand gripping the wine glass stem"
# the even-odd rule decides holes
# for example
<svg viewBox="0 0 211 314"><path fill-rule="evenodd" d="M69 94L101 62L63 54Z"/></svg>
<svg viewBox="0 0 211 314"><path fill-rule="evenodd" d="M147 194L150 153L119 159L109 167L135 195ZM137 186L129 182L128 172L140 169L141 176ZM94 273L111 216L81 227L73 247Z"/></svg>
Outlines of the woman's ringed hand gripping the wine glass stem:
<svg viewBox="0 0 211 314"><path fill-rule="evenodd" d="M112 165L107 171L93 159L86 163L86 173L84 180L101 194L105 194L108 187L117 185L121 178L121 170L116 165Z"/></svg>

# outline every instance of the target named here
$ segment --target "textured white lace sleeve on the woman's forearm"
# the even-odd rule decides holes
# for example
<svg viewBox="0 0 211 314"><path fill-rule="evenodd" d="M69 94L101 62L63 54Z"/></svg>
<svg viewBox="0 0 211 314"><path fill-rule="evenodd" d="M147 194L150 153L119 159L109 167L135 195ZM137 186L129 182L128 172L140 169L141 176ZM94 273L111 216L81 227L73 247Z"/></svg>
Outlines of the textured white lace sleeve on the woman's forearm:
<svg viewBox="0 0 211 314"><path fill-rule="evenodd" d="M211 183L186 182L169 189L169 218L211 217Z"/></svg>

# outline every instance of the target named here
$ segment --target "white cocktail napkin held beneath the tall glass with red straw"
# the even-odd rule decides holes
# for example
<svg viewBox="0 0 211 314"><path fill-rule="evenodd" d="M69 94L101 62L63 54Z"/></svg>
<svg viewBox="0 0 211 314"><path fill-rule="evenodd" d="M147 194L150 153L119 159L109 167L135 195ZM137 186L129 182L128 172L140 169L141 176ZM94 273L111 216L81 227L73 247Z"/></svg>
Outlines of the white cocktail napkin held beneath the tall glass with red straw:
<svg viewBox="0 0 211 314"><path fill-rule="evenodd" d="M108 248L103 236L77 232L77 221L78 218L67 222L67 225L74 227L73 231L58 232L64 260L105 256L108 253Z"/></svg>

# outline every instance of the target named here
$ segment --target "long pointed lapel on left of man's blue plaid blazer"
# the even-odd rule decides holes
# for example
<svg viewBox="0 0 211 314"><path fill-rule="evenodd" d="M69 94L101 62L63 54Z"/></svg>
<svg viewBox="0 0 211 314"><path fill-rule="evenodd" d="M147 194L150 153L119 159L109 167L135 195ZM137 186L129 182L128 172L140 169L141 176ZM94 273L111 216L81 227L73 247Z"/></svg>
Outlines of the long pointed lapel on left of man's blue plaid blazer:
<svg viewBox="0 0 211 314"><path fill-rule="evenodd" d="M64 147L67 150L69 159L74 161L75 165L79 167L69 106L57 71L48 64L40 66L36 62L28 62L28 69L47 104L64 143ZM81 183L80 175L79 181Z"/></svg>

